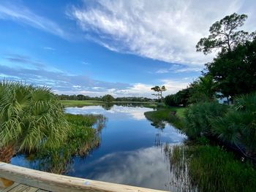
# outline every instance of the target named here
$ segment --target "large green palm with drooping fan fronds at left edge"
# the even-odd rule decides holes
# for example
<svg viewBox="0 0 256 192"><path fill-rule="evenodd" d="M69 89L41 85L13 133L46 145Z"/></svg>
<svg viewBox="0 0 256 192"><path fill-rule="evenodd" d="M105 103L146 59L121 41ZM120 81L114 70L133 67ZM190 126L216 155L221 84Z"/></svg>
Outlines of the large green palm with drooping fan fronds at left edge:
<svg viewBox="0 0 256 192"><path fill-rule="evenodd" d="M63 107L49 88L0 82L0 147L55 147L67 136Z"/></svg>

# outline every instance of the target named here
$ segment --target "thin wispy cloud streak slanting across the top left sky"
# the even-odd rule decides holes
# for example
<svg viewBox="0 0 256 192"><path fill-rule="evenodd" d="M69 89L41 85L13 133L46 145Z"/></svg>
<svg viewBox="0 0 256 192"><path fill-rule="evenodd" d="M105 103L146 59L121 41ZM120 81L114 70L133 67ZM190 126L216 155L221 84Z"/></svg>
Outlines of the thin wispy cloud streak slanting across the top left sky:
<svg viewBox="0 0 256 192"><path fill-rule="evenodd" d="M0 19L13 20L18 23L25 23L34 28L39 28L50 34L54 34L64 39L69 39L69 34L52 20L37 15L29 8L15 3L0 4Z"/></svg>

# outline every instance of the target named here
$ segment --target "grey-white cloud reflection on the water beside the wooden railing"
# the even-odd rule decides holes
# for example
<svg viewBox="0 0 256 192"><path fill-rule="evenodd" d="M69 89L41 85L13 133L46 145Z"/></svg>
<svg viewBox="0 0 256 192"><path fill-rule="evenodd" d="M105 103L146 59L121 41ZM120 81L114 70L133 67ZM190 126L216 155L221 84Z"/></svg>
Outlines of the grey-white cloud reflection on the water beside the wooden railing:
<svg viewBox="0 0 256 192"><path fill-rule="evenodd" d="M137 185L146 188L168 190L170 171L159 147L110 153L97 161L79 166L76 175L111 183Z"/></svg>

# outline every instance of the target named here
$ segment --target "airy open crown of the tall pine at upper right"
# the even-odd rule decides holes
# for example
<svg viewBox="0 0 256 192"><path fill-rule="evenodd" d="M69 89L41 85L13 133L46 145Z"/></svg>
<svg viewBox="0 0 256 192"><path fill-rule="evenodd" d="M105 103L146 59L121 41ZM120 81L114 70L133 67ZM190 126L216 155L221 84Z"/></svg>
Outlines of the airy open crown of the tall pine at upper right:
<svg viewBox="0 0 256 192"><path fill-rule="evenodd" d="M246 31L237 31L238 27L244 25L246 18L247 15L233 13L215 22L210 27L210 35L197 42L197 51L208 54L214 49L221 48L224 52L230 52L238 44L244 44L246 40L253 39L255 32L249 34Z"/></svg>

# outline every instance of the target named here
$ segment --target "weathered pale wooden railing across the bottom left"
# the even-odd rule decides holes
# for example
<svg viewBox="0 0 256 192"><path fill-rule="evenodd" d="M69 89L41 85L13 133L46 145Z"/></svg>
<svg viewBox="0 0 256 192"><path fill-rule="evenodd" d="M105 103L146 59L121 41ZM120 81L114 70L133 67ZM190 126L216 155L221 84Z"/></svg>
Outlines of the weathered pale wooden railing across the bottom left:
<svg viewBox="0 0 256 192"><path fill-rule="evenodd" d="M149 188L139 188L130 185L120 185L97 180L86 180L78 177L69 177L61 174L40 172L2 162L0 162L0 178L4 179L2 180L2 183L5 183L4 185L10 185L12 182L15 182L34 188L40 188L45 191L160 192L159 190Z"/></svg>

